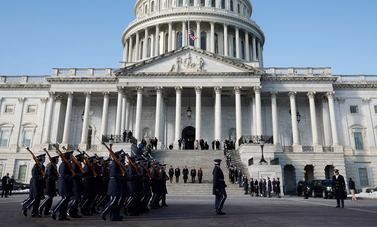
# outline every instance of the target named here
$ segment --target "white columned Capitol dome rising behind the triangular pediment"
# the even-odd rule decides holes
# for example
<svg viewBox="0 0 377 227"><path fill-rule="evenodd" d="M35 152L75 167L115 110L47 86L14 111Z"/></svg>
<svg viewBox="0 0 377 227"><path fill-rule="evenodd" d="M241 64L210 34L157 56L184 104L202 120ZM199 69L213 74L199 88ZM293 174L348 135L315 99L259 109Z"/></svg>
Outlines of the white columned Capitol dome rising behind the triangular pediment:
<svg viewBox="0 0 377 227"><path fill-rule="evenodd" d="M263 67L265 36L252 12L249 0L137 0L136 19L122 34L123 62L191 45ZM198 40L189 39L189 25Z"/></svg>

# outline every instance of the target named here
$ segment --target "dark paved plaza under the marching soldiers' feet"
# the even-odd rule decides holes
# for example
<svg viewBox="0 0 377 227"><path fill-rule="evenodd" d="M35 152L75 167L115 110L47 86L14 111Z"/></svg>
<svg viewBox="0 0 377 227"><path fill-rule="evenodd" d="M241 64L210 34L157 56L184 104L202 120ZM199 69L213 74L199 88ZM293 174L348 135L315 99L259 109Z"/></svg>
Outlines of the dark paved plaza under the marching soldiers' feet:
<svg viewBox="0 0 377 227"><path fill-rule="evenodd" d="M342 209L335 208L336 200L322 198L231 196L223 208L226 215L216 215L214 196L167 195L169 207L151 210L139 217L125 216L123 222L104 222L98 214L71 221L54 221L49 216L31 218L30 211L27 217L23 216L20 207L26 197L28 195L14 195L0 199L2 226L375 226L377 214L377 201L373 200L359 200L358 203L346 200ZM58 199L55 198L53 204Z"/></svg>

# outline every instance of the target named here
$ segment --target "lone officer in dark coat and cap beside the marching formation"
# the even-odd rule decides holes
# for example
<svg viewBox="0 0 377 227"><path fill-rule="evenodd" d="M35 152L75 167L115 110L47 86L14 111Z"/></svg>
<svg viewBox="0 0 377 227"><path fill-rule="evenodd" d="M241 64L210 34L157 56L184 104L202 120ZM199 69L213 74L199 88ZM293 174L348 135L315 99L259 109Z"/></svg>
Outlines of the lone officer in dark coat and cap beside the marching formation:
<svg viewBox="0 0 377 227"><path fill-rule="evenodd" d="M219 215L224 215L225 213L222 212L222 206L224 205L225 200L227 199L227 192L225 191L225 187L227 185L224 181L224 174L220 168L221 159L215 159L215 168L213 168L213 195L216 196L215 199L215 211Z"/></svg>

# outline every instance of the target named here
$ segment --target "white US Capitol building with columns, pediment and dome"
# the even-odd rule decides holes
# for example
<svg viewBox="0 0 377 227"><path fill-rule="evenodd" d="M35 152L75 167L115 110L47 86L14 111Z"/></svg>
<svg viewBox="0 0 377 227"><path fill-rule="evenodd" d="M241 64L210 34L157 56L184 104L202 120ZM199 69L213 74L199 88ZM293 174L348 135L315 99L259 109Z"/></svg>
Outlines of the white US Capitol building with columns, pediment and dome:
<svg viewBox="0 0 377 227"><path fill-rule="evenodd" d="M135 144L157 137L158 149L178 149L180 138L203 138L210 150L218 139L222 149L232 139L248 175L281 177L285 192L334 168L357 189L375 187L377 76L265 68L252 13L248 0L137 0L119 69L0 76L0 174L29 182L34 161L23 144L35 154L51 140L108 156L97 138L113 135L130 151L120 135L131 130Z"/></svg>

